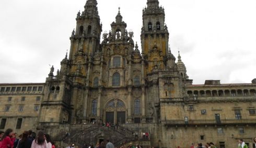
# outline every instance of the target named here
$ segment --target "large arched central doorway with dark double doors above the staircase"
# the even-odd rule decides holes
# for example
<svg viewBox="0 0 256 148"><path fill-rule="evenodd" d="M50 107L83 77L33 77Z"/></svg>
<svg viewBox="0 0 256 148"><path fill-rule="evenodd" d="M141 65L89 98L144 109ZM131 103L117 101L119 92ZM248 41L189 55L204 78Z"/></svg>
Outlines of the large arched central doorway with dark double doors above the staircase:
<svg viewBox="0 0 256 148"><path fill-rule="evenodd" d="M124 102L119 99L107 103L105 122L112 124L124 124L126 121L126 108Z"/></svg>

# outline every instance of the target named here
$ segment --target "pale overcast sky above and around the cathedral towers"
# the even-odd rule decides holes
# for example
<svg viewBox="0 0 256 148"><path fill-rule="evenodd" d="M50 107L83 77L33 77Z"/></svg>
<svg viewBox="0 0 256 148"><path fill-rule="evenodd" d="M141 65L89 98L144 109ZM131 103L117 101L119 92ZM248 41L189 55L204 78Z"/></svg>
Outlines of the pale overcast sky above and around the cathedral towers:
<svg viewBox="0 0 256 148"><path fill-rule="evenodd" d="M146 0L98 0L103 32L121 7L127 30L140 43ZM251 83L256 77L255 0L159 0L165 8L169 43L180 50L194 84L205 79ZM0 83L43 83L69 52L69 37L85 0L1 0ZM103 33L102 32L102 33ZM141 50L141 46L139 45ZM178 58L177 58L178 59Z"/></svg>

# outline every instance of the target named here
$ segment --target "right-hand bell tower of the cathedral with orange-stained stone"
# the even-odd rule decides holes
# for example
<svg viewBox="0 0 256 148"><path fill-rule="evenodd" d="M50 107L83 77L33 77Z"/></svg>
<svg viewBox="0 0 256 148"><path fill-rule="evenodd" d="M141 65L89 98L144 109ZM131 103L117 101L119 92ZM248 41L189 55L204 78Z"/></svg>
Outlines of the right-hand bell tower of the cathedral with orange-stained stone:
<svg viewBox="0 0 256 148"><path fill-rule="evenodd" d="M147 7L143 9L141 41L142 53L148 58L147 73L153 69L164 69L169 32L165 24L165 9L159 7L158 0L147 0Z"/></svg>

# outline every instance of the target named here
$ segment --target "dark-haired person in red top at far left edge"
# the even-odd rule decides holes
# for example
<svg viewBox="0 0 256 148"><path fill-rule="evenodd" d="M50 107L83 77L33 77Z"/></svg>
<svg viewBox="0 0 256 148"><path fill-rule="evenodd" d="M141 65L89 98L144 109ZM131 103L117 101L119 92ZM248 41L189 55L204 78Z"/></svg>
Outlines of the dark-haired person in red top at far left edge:
<svg viewBox="0 0 256 148"><path fill-rule="evenodd" d="M0 148L13 148L14 141L15 141L15 135L13 135L13 129L8 128L4 133Z"/></svg>

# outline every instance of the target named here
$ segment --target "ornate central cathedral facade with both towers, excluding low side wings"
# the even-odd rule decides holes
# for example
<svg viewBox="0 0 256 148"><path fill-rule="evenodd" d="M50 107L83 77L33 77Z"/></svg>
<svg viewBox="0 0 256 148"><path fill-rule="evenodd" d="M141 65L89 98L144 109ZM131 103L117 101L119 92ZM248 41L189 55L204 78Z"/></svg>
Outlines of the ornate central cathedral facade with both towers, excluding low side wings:
<svg viewBox="0 0 256 148"><path fill-rule="evenodd" d="M143 9L142 52L118 11L103 33L97 1L78 12L69 57L46 78L40 123L158 123L159 100L184 97L192 84L184 63L169 49L165 9L147 0ZM138 26L139 27L139 26Z"/></svg>

